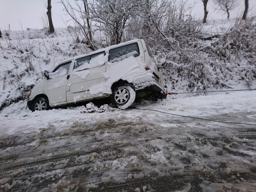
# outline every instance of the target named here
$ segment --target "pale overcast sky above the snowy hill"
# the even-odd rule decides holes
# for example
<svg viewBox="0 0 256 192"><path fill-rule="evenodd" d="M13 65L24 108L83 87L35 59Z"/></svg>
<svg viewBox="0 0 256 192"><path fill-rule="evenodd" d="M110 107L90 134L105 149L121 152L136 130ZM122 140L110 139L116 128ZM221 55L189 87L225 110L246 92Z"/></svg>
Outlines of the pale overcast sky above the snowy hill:
<svg viewBox="0 0 256 192"><path fill-rule="evenodd" d="M63 10L63 5L57 3L59 0L52 0L52 20L54 27L66 27L65 22L70 18ZM69 0L74 2L74 0ZM179 1L179 0L177 0ZM7 29L10 24L11 30L19 30L22 28L42 29L43 23L41 17L46 15L47 8L45 7L47 0L0 0L0 28ZM188 2L197 2L193 8L193 15L197 17L203 16L203 2L201 0L188 0ZM230 17L235 17L241 14L244 9L244 0L240 0L240 6L230 12ZM254 7L253 7L254 6ZM249 0L249 7L256 12L256 0ZM208 6L209 17L214 19L226 18L227 15L222 12L217 12L213 8L212 0L209 0ZM45 16L44 16L45 17ZM63 20L64 21L63 21ZM72 22L67 25L73 25Z"/></svg>

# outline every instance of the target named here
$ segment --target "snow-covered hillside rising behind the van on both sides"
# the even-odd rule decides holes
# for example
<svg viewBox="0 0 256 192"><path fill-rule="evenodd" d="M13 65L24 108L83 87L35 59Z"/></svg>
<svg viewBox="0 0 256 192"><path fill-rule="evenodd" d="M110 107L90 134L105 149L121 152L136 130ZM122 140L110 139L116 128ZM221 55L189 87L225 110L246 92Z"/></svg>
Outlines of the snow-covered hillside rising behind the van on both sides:
<svg viewBox="0 0 256 192"><path fill-rule="evenodd" d="M177 47L176 43L181 42L170 38L168 41L173 41L177 50L169 53L161 50L164 49L161 44L152 45L150 39L145 39L163 68L166 90L254 89L255 27L246 29L245 25L237 20L209 20L194 34L197 36L184 39L190 48ZM240 28L244 31L237 41L235 35ZM100 34L94 35L98 48L105 46L104 39L99 41ZM91 52L84 41L76 38L71 26L56 29L53 35L45 35L44 29L29 29L5 31L3 36L0 39L0 109L28 98L31 88L44 78L44 70L50 71L60 61Z"/></svg>

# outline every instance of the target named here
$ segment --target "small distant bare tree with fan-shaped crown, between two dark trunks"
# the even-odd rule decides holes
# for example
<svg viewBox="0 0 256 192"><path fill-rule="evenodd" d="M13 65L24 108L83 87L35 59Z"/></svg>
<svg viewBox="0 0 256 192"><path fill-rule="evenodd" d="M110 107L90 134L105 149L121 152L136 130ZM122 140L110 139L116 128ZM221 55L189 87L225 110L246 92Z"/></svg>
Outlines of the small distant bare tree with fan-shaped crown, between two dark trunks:
<svg viewBox="0 0 256 192"><path fill-rule="evenodd" d="M229 11L239 5L239 0L213 0L213 3L217 6L217 10L227 12L227 19L229 19Z"/></svg>

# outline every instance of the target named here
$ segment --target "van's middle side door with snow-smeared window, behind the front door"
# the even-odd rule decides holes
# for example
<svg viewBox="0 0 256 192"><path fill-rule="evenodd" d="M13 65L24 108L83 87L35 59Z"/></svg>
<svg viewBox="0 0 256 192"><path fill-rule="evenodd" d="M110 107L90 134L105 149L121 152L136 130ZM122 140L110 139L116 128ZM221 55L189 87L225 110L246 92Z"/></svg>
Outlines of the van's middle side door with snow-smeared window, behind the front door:
<svg viewBox="0 0 256 192"><path fill-rule="evenodd" d="M105 51L75 60L66 92L68 103L97 97L90 94L90 87L105 82L105 62Z"/></svg>

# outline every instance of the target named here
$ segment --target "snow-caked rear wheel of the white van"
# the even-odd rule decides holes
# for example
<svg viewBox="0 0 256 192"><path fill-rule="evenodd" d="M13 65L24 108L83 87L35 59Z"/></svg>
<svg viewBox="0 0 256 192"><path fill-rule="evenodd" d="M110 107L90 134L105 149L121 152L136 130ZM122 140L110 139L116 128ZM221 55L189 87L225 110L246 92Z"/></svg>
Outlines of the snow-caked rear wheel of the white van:
<svg viewBox="0 0 256 192"><path fill-rule="evenodd" d="M133 104L136 93L129 84L122 84L114 88L111 95L115 107L126 109Z"/></svg>

